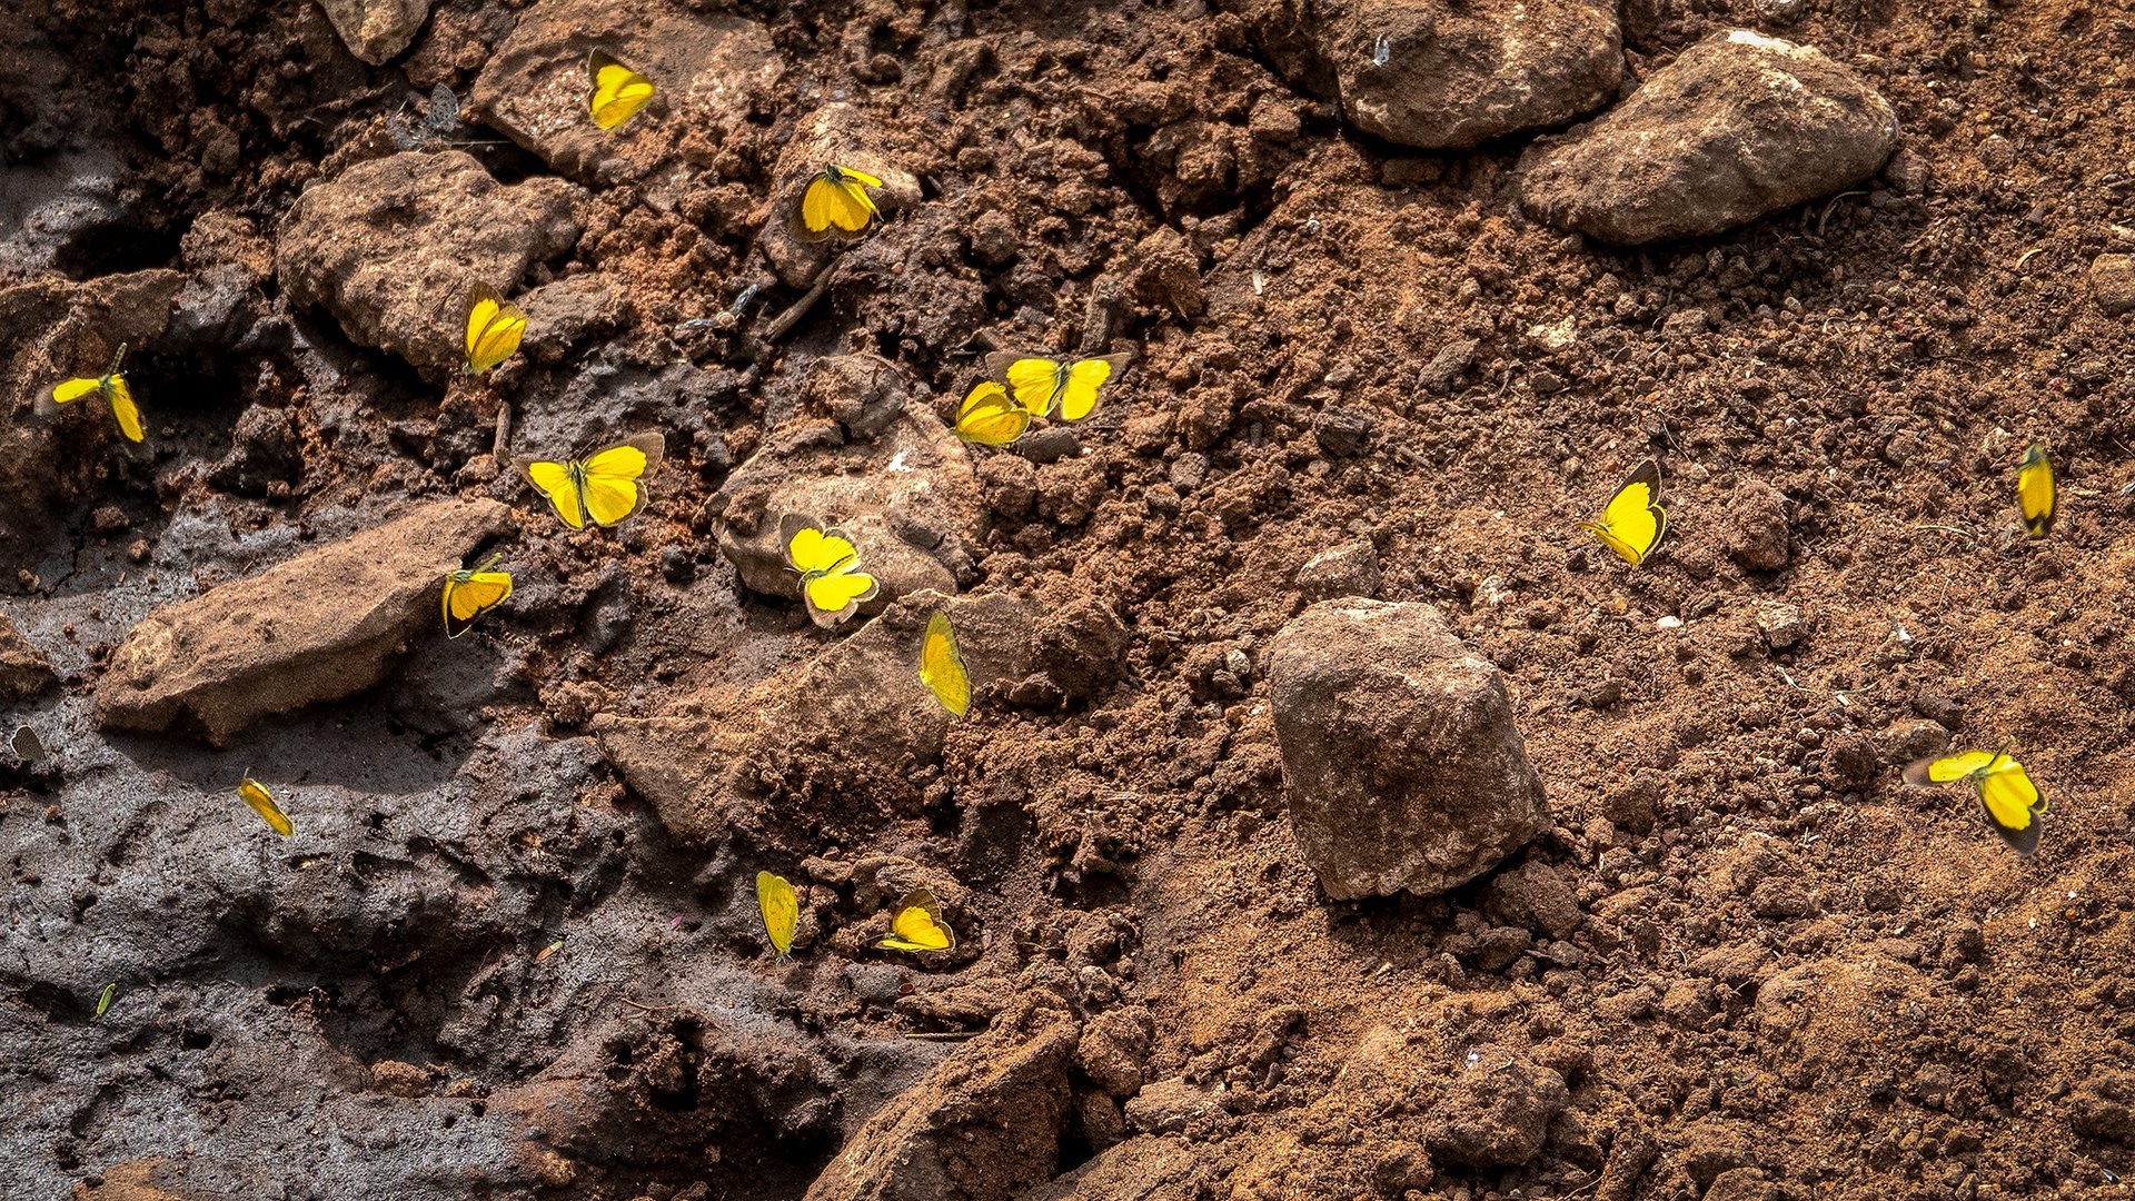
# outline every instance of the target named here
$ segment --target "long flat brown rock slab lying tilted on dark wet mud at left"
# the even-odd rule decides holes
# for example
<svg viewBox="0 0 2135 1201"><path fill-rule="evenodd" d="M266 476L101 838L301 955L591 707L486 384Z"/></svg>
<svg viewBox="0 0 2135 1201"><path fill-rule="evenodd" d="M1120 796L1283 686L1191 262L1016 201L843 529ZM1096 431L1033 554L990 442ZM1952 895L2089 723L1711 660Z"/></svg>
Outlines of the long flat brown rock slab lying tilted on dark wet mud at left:
<svg viewBox="0 0 2135 1201"><path fill-rule="evenodd" d="M352 697L438 620L444 573L510 528L495 500L440 500L158 609L111 656L96 720L228 746L260 718Z"/></svg>

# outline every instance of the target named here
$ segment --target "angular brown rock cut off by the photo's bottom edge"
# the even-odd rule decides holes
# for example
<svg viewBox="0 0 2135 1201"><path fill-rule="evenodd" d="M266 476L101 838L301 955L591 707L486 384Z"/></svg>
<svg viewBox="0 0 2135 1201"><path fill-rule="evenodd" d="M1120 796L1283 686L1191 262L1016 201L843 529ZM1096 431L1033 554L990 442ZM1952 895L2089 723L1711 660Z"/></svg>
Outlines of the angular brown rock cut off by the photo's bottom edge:
<svg viewBox="0 0 2135 1201"><path fill-rule="evenodd" d="M1074 1043L1068 1013L1021 1004L869 1118L807 1201L1008 1201L1053 1180Z"/></svg>

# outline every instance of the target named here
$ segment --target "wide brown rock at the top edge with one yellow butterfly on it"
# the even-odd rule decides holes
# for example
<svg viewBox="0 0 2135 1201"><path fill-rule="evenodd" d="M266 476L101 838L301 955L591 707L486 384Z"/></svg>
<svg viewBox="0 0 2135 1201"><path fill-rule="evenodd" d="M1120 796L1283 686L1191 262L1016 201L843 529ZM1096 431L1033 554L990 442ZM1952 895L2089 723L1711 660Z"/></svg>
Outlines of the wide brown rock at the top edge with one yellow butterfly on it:
<svg viewBox="0 0 2135 1201"><path fill-rule="evenodd" d="M615 130L585 111L594 49L658 88ZM540 0L483 66L472 98L487 124L566 175L645 180L702 167L702 147L741 126L781 73L771 34L743 17L666 0Z"/></svg>

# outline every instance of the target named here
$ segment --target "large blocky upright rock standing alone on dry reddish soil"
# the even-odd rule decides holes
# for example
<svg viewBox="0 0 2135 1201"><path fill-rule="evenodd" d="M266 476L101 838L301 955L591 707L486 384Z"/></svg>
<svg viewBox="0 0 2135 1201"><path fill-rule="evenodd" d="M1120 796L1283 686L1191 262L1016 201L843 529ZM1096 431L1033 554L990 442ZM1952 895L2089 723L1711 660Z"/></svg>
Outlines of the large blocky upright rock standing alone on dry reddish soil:
<svg viewBox="0 0 2135 1201"><path fill-rule="evenodd" d="M1313 605L1275 635L1268 697L1298 851L1330 898L1445 891L1544 825L1497 669L1430 605Z"/></svg>

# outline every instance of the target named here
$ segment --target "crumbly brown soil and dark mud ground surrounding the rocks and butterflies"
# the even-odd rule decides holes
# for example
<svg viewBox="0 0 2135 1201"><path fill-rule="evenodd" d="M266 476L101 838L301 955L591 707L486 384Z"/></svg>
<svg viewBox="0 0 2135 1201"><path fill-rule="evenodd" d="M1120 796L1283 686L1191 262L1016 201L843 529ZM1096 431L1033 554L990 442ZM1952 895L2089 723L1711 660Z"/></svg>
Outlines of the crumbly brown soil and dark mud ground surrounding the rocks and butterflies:
<svg viewBox="0 0 2135 1201"><path fill-rule="evenodd" d="M122 158L128 216L64 271L177 267L207 214L271 237L305 184L391 152L382 130L414 96L465 96L517 9L442 0L384 68L352 60L310 2L0 17L0 111L23 118L0 152L34 162L88 137ZM1635 73L1714 28L1759 26L1746 0L1638 9ZM64 532L6 564L32 588L0 609L64 675L36 712L79 739L68 771L96 765L88 780L0 776L19 786L0 814L0 851L15 848L0 1047L34 1064L0 1064L0 1163L21 1197L75 1182L85 1197L314 1195L305 1180L339 1180L339 1197L798 1197L959 1047L905 1034L982 1026L1040 987L1085 1019L1146 1004L1140 1077L1225 1088L1215 1118L1159 1135L1191 1154L1155 1197L2122 1195L2135 355L2084 276L2135 239L2124 15L1815 0L1766 28L1862 71L1898 107L1926 188L1885 177L1710 241L1614 252L1516 212L1520 139L1433 156L1345 130L1255 56L1258 11L737 11L769 24L786 92L698 147L702 177L679 203L598 188L576 250L549 265L630 280L613 338L448 391L339 342L316 312L275 316L299 348L141 357L162 430L152 466L68 474L51 498ZM924 201L771 342L801 293L752 241L805 96L833 88L880 124ZM544 171L510 145L470 152L508 182ZM1001 229L1014 254L984 246ZM1087 703L982 697L939 763L899 765L895 797L796 799L805 823L670 842L585 731L824 645L794 605L737 590L707 513L764 442L766 410L792 415L807 359L871 350L935 400L961 397L978 350L1072 346L1108 295L1138 365L1082 432L1085 455L1025 477L1029 502L1014 470L982 468L995 517L963 583L1110 609L1125 677ZM709 321L726 312L739 321ZM677 331L692 318L709 325ZM1473 368L1448 393L1420 387L1462 338ZM322 389L303 355L363 378ZM553 395L591 361L653 374L679 359L707 372L696 430L668 430L655 500L621 536L570 536L463 470L489 453L502 400ZM213 474L252 404L295 415L292 487ZM2045 543L2022 541L2013 511L2028 440L2062 470ZM90 436L62 444L115 455ZM1667 472L1672 528L1627 571L1576 521L1646 455ZM453 795L455 771L487 771L474 778L497 797L523 780L568 789L549 797L564 804L510 801L515 846L547 859L523 876L465 868L418 906L461 917L412 974L391 960L425 945L418 930L339 945L333 921L284 913L282 885L263 885L263 908L216 927L305 936L188 942L145 968L164 1000L143 981L120 1034L75 1039L88 1002L9 964L6 942L126 938L154 930L158 902L113 913L98 889L145 889L130 859L68 876L32 870L32 844L115 780L132 782L111 795L147 810L158 789L209 789L246 757L107 744L85 716L96 662L154 603L371 524L350 513L444 494L519 504L521 603L258 754L331 782L352 821L371 806L410 831L491 804ZM113 504L124 532L98 515ZM1759 517L1774 509L1785 566L1742 566L1768 562ZM135 539L169 541L158 558L184 564L158 594L124 558ZM1377 549L1377 596L1443 607L1505 671L1554 818L1507 868L1541 863L1571 887L1586 919L1567 938L1522 917L1503 878L1330 904L1298 859L1258 648L1304 605L1298 568L1356 539ZM1774 652L1759 620L1778 605L1806 633ZM2037 857L2009 855L1956 791L1898 784L1909 754L1939 748L1926 720L2020 748L2052 797ZM835 750L794 754L813 759L794 776L850 776ZM96 776L117 761L135 776ZM433 808L393 810L416 795ZM448 863L440 842L489 833L436 838L401 855ZM809 876L833 898L824 919L860 927L880 904L824 880L873 855L954 889L963 953L914 968L824 930L790 966L758 955L758 865L801 880L805 857L833 863ZM361 887L391 876L361 853L337 861ZM160 870L175 872L160 887L184 887L186 865ZM493 904L525 921L468 917ZM521 964L557 930L564 962L600 947L568 989ZM1091 966L1110 983L1078 992ZM967 1017L899 1004L967 983L993 998ZM1443 1150L1458 1145L1445 1109L1475 1105L1467 1073L1499 1062L1559 1073L1569 1107L1544 1118L1539 1154L1469 1167ZM1074 1088L1104 1092L1082 1075ZM369 1150L333 1135L350 1098L404 1094L470 1124L485 1101L508 1109L497 1145L517 1150L425 1143L444 1139L431 1118L429 1135ZM1078 1101L1059 1171L1117 1141L1117 1118ZM478 1158L489 1167L425 1167Z"/></svg>

